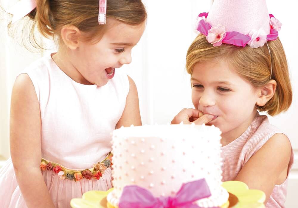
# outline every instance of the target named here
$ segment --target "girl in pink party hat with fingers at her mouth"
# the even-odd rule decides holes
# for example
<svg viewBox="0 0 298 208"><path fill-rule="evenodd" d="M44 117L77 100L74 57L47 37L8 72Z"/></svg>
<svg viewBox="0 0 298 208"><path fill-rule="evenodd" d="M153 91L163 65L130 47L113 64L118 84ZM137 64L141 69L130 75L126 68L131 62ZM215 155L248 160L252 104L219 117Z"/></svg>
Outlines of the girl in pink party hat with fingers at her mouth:
<svg viewBox="0 0 298 208"><path fill-rule="evenodd" d="M223 181L245 182L266 194L266 207L285 207L293 150L266 115L292 101L281 23L265 0L215 0L198 16L200 34L187 51L195 109L172 123L207 123L222 132Z"/></svg>

